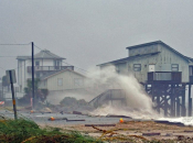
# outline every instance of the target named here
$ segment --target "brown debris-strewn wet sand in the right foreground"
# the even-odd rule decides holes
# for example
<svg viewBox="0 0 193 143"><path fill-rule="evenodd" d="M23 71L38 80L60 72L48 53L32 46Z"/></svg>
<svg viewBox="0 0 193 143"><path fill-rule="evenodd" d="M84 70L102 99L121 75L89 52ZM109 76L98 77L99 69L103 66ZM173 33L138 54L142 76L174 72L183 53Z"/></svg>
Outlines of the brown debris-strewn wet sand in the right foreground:
<svg viewBox="0 0 193 143"><path fill-rule="evenodd" d="M44 125L42 125L42 128L44 128ZM84 124L63 124L60 127L54 125L54 128L62 128L63 130L69 131L79 131L94 138L100 138L104 133L103 131L98 131L93 127L85 127ZM170 142L172 140L174 142L193 142L193 127L169 125L153 121L127 121L124 123L116 123L116 127L97 127L97 129L105 130L106 132L114 132L116 133L115 135L119 134L124 136L142 136L147 141L157 140L161 142ZM143 135L143 133L160 133L160 135L147 136Z"/></svg>

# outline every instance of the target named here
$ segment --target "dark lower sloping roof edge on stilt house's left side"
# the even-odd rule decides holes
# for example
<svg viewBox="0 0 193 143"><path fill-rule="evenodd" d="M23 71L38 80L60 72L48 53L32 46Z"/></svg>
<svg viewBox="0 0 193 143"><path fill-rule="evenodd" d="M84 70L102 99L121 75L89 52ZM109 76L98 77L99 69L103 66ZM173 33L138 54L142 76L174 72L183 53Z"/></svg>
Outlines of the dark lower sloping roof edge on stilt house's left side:
<svg viewBox="0 0 193 143"><path fill-rule="evenodd" d="M107 63L104 63L104 64L99 64L99 65L97 65L97 66L103 66L103 65L106 65L106 64L118 64L118 63L124 63L124 62L131 61L131 59L136 59L136 58L142 58L142 57L148 57L148 56L157 55L157 54L159 54L159 53L160 53L160 52L150 53L150 54L143 54L143 55L129 56L129 57L120 58L120 59L117 59L117 61L112 61L112 62L107 62Z"/></svg>

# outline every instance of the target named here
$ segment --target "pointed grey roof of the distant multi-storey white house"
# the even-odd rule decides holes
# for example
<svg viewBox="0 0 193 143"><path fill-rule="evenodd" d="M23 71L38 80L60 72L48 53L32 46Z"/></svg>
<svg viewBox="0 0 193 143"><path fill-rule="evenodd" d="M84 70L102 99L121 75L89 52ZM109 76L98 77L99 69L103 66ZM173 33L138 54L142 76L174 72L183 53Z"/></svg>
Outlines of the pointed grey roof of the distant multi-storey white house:
<svg viewBox="0 0 193 143"><path fill-rule="evenodd" d="M43 50L40 53L34 55L35 59L65 59L63 57L60 57L53 53L51 53L47 50ZM18 56L17 59L31 59L31 56Z"/></svg>

